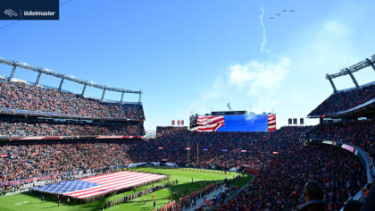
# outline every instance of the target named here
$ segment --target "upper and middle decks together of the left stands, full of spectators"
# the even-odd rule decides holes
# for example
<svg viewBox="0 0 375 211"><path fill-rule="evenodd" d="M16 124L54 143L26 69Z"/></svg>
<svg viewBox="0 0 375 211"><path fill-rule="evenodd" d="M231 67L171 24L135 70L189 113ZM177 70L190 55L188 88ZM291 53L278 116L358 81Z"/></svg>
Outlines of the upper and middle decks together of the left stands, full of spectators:
<svg viewBox="0 0 375 211"><path fill-rule="evenodd" d="M1 80L0 88L3 137L145 135L140 104L102 103L25 82Z"/></svg>

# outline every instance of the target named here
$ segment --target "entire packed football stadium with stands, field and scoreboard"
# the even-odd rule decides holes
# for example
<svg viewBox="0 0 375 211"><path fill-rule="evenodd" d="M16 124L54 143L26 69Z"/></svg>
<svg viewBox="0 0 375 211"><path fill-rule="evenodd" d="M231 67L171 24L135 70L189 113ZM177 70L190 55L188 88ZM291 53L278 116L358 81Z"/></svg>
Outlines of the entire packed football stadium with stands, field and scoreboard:
<svg viewBox="0 0 375 211"><path fill-rule="evenodd" d="M12 60L0 63L12 67L10 76L1 80L1 192L12 195L0 198L5 210L10 206L7 200L18 196L58 200L59 207L60 203L95 207L100 201L103 207L96 208L106 209L129 206L151 195L158 201L155 210L293 209L302 204L301 187L311 179L321 183L329 209L339 210L346 201L361 200L369 192L367 184L375 173L371 158L375 84L359 86L353 72L375 70L375 55L327 74L334 93L308 114L319 118L319 125L275 130L275 114L212 112L193 115L191 130L158 127L156 139L147 140L142 139L142 103L122 102L125 93L140 99L141 91L102 86ZM18 69L37 72L37 80L14 80ZM42 74L58 77L60 86L40 85ZM355 87L337 90L333 79L345 75ZM81 94L63 90L63 80L82 84ZM102 98L85 97L87 85L103 89ZM105 102L109 89L121 91L121 100ZM158 196L159 189L179 190L178 181L187 180L188 185L189 178L179 178L174 171L202 174L204 181L192 176L187 191L168 196L159 207L161 200L154 198L154 191ZM219 186L225 190L196 206L206 194L222 190Z"/></svg>

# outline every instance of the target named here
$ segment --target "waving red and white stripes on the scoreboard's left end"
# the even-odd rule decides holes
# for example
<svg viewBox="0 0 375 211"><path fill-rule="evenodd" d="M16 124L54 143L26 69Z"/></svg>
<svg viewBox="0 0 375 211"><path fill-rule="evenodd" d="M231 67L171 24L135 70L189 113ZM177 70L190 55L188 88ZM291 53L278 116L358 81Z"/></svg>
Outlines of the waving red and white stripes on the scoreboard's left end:
<svg viewBox="0 0 375 211"><path fill-rule="evenodd" d="M199 116L193 131L217 131L224 125L223 115Z"/></svg>

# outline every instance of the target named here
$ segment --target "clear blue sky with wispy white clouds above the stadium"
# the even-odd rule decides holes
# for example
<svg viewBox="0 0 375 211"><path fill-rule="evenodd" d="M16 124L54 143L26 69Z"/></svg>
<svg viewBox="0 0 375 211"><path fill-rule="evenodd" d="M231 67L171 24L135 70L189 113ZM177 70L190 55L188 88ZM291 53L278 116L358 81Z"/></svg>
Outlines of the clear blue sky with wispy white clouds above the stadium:
<svg viewBox="0 0 375 211"><path fill-rule="evenodd" d="M19 21L1 29L0 57L142 89L146 130L188 122L190 111L226 110L228 103L236 110L273 111L280 127L329 97L325 73L375 54L374 8L370 0L72 0L61 6L60 21ZM9 23L0 21L0 28ZM9 73L0 65L0 75ZM375 72L367 68L354 76L364 84ZM348 76L335 82L337 89L354 86ZM42 76L41 83L58 86L59 80ZM65 82L63 89L79 93L81 86ZM101 92L87 89L87 95Z"/></svg>

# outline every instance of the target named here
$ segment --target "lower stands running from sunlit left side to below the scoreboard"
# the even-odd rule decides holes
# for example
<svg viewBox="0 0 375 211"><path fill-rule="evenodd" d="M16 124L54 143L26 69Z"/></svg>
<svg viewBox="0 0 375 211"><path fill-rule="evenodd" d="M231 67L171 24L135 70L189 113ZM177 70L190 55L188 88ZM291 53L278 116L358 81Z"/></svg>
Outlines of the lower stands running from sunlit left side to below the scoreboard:
<svg viewBox="0 0 375 211"><path fill-rule="evenodd" d="M23 125L24 123L20 123ZM87 125L82 126L87 127ZM46 128L50 130L50 125ZM68 127L67 127L68 128ZM8 144L0 146L0 177L13 181L67 173L78 170L151 162L167 159L169 162L187 164L185 148L199 144L201 165L233 165L252 163L259 168L272 151L298 145L298 137L308 128L283 128L275 132L192 132L175 131L156 140L138 141L132 144L107 143L57 143L57 144ZM48 131L46 130L46 131ZM273 147L278 143L280 147ZM160 149L162 147L163 149ZM227 148L227 151L222 151ZM238 148L246 148L246 154ZM204 150L207 149L207 150ZM264 153L259 153L260 151ZM196 161L191 153L190 162ZM122 157L120 157L122 155Z"/></svg>

